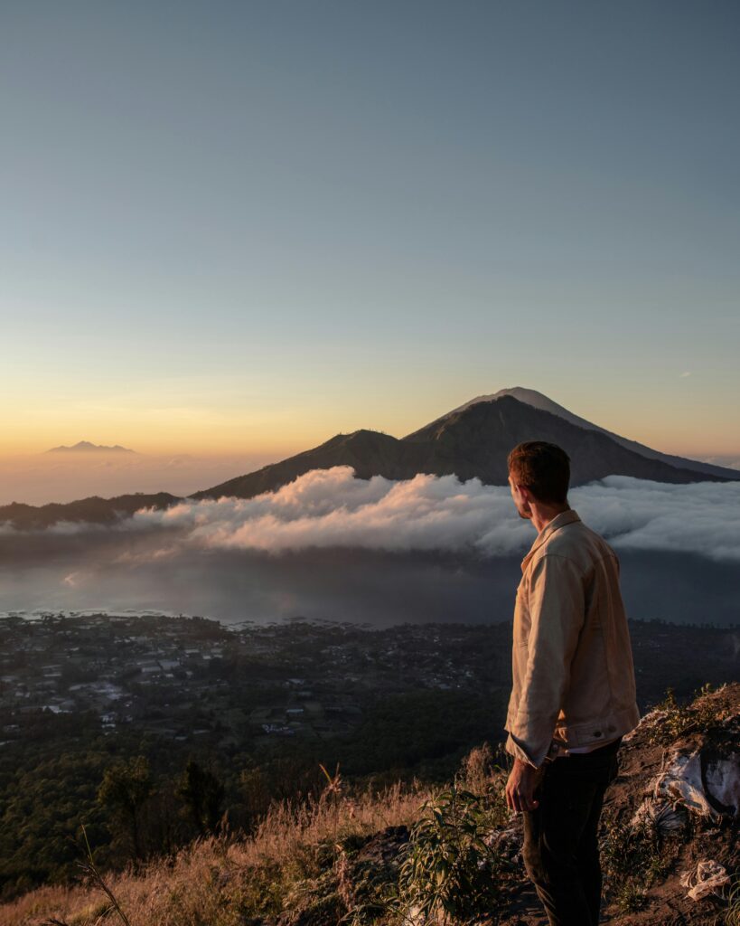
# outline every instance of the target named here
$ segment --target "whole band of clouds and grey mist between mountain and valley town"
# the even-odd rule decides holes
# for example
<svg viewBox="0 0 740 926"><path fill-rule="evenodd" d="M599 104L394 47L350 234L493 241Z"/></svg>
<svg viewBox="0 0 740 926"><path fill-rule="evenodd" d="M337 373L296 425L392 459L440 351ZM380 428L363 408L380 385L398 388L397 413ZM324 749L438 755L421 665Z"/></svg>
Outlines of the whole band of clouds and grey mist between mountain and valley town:
<svg viewBox="0 0 740 926"><path fill-rule="evenodd" d="M610 477L570 502L619 551L631 617L736 623L740 483ZM113 527L0 525L2 607L489 623L511 618L535 537L505 486L316 469L274 493L142 509Z"/></svg>

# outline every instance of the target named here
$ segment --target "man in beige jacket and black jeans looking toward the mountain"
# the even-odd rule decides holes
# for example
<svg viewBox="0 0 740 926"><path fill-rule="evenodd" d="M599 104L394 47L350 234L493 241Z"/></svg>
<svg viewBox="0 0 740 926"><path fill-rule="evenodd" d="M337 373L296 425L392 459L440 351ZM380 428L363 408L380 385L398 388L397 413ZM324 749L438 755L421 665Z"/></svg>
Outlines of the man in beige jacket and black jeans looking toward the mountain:
<svg viewBox="0 0 740 926"><path fill-rule="evenodd" d="M523 814L524 867L550 926L597 926L598 819L623 734L640 720L619 560L568 505L561 447L518 444L508 462L537 537L514 608L506 800Z"/></svg>

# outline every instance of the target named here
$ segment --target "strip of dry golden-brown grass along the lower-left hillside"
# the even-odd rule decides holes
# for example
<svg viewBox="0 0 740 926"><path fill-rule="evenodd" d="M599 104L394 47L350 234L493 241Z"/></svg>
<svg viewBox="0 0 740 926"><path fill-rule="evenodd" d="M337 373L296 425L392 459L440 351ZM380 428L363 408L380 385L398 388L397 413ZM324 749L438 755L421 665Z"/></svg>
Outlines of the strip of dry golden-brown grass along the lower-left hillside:
<svg viewBox="0 0 740 926"><path fill-rule="evenodd" d="M328 776L327 776L328 777ZM105 882L131 926L241 926L275 915L297 885L326 872L327 846L387 826L411 826L431 791L414 780L380 793L342 793L339 776L318 799L273 804L248 839L228 833L196 840L170 859ZM43 887L0 907L0 926L68 926L116 922L105 895L91 883Z"/></svg>

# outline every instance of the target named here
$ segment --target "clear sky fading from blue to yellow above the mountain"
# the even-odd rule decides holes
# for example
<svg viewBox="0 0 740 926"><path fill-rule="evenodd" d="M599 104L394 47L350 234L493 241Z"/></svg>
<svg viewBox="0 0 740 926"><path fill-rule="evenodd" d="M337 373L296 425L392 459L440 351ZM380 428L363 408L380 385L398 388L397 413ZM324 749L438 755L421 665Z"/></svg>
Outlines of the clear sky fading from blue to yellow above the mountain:
<svg viewBox="0 0 740 926"><path fill-rule="evenodd" d="M0 454L522 385L740 451L740 5L0 6Z"/></svg>

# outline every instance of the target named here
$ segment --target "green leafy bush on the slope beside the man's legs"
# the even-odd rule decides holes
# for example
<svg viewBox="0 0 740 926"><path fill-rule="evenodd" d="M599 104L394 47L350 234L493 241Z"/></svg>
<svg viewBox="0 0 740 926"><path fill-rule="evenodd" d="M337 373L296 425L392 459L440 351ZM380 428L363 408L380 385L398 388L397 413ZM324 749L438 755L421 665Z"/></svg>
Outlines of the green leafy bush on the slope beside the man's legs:
<svg viewBox="0 0 740 926"><path fill-rule="evenodd" d="M399 870L401 907L442 923L496 915L504 863L484 837L498 822L498 808L453 784L420 811Z"/></svg>

